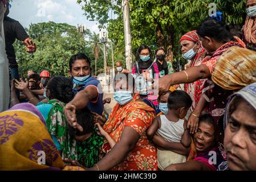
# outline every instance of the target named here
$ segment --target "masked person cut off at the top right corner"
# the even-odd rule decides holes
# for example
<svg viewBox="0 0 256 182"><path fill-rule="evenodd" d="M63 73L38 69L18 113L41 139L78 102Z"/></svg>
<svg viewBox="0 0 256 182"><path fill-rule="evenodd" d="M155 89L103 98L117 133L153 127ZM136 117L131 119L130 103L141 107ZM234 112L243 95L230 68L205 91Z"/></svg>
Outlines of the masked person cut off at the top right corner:
<svg viewBox="0 0 256 182"><path fill-rule="evenodd" d="M243 42L246 47L256 51L256 0L247 0L246 2L246 21L243 27Z"/></svg>

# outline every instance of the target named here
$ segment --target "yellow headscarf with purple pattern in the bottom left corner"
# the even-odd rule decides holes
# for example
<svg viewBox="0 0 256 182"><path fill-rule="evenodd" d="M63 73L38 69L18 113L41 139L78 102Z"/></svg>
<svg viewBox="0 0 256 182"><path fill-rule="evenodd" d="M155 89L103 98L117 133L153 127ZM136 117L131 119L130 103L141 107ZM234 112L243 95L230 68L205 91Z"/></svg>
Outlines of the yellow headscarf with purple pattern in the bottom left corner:
<svg viewBox="0 0 256 182"><path fill-rule="evenodd" d="M64 167L43 116L27 103L0 113L0 154L0 171Z"/></svg>

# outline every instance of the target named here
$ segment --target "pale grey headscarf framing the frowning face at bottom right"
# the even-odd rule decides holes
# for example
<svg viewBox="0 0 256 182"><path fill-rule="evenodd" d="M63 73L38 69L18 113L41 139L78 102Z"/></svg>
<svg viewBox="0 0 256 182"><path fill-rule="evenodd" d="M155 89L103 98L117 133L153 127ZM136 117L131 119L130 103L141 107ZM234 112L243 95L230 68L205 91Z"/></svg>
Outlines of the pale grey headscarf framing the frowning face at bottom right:
<svg viewBox="0 0 256 182"><path fill-rule="evenodd" d="M249 102L250 105L253 106L254 109L256 110L256 82L239 90L238 92L234 93L230 97L229 102L227 102L226 111L225 111L225 117L224 117L225 126L229 121L231 107L233 106L233 104L235 104L236 98L238 96L242 97L243 100Z"/></svg>

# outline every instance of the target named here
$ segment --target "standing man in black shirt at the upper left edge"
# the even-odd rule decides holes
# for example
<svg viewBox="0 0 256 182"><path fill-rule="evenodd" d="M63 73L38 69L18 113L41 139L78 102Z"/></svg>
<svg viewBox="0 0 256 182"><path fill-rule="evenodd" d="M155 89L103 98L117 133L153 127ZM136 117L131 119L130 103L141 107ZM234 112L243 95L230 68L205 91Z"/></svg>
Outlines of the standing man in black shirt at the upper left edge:
<svg viewBox="0 0 256 182"><path fill-rule="evenodd" d="M11 78L18 79L18 64L16 61L13 43L15 42L15 39L22 41L25 46L27 46L27 52L29 53L35 52L35 43L32 42L25 29L17 20L11 19L7 16L9 14L10 7L9 2L7 2L5 18L3 19L3 28L5 30L6 54L11 68Z"/></svg>

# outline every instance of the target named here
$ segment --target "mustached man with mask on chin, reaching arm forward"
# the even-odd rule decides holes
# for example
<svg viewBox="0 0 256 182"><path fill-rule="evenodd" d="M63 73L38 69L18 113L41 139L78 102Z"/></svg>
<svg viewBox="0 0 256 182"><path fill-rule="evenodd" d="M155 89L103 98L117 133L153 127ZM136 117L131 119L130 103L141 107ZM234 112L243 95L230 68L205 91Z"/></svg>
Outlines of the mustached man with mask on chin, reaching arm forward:
<svg viewBox="0 0 256 182"><path fill-rule="evenodd" d="M72 125L72 118L75 118L75 111L87 107L97 114L103 113L103 90L100 82L91 75L91 61L83 53L71 56L69 62L70 70L68 75L73 81L74 99L65 107L65 114L68 122L79 131L83 128Z"/></svg>

